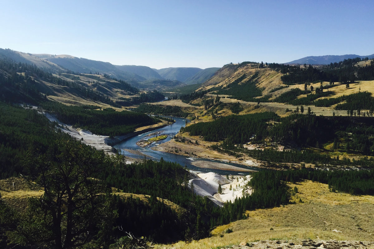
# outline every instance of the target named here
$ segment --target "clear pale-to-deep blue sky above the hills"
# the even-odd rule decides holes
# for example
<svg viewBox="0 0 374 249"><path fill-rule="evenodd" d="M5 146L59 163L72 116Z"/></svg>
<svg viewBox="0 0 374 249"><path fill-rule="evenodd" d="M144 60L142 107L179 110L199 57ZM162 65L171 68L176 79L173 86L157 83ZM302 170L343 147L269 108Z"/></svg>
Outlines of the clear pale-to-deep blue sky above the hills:
<svg viewBox="0 0 374 249"><path fill-rule="evenodd" d="M374 1L1 1L0 47L116 65L221 67L374 53Z"/></svg>

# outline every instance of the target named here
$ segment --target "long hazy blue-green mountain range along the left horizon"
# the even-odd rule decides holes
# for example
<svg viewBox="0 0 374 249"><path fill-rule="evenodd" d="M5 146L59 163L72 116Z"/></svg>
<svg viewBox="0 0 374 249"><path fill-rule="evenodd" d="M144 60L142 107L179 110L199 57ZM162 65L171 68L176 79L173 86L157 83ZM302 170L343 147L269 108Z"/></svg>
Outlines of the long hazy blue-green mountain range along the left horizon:
<svg viewBox="0 0 374 249"><path fill-rule="evenodd" d="M78 58L71 55L31 54L14 51L11 49L0 49L0 57L6 57L16 63L36 65L52 74L74 73L108 75L111 78L124 80L133 86L144 89L158 89L185 85L187 78L203 71L200 68L163 68L151 69L148 66L113 65L109 62ZM158 71L162 72L163 77ZM208 70L209 71L209 70ZM207 72L205 77L208 77ZM197 77L204 80L204 76ZM194 81L189 81L194 83Z"/></svg>

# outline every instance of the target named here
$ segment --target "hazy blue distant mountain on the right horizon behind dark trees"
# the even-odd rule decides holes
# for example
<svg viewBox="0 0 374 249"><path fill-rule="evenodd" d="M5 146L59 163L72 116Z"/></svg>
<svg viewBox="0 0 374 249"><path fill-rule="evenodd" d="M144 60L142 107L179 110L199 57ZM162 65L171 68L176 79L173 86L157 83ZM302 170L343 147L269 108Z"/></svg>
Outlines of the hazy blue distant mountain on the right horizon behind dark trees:
<svg viewBox="0 0 374 249"><path fill-rule="evenodd" d="M368 57L369 59L373 59L374 58L374 54L373 55L365 55L365 56L361 56L361 55L323 55L323 56L307 56L307 57L304 57L304 58L301 58L301 59L298 59L298 60L292 60L290 62L287 62L287 63L283 63L283 64L330 64L330 63L334 63L334 62L340 62L340 61L343 61L345 59L353 59L353 58L357 58L357 57L360 57L361 59L364 59L366 57Z"/></svg>

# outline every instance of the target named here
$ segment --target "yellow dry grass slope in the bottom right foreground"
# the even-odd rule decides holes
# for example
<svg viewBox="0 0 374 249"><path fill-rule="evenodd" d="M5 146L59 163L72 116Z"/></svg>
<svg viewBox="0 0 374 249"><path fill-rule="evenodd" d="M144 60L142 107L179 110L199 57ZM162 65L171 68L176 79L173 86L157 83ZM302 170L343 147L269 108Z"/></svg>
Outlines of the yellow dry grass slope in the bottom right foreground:
<svg viewBox="0 0 374 249"><path fill-rule="evenodd" d="M256 240L368 240L374 239L374 197L329 192L327 184L304 181L297 186L296 204L247 211L248 218L215 228L212 237L156 248L208 249ZM300 203L299 199L304 203ZM233 233L224 233L231 228ZM273 228L273 230L270 230ZM342 233L333 232L338 230ZM223 237L221 237L223 236Z"/></svg>

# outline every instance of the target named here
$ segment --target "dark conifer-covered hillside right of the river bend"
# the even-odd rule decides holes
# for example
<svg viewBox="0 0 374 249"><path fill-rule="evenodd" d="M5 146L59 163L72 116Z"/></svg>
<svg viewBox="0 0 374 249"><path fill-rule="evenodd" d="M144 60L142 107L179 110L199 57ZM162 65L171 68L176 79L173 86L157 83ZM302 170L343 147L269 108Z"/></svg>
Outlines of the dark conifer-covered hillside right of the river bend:
<svg viewBox="0 0 374 249"><path fill-rule="evenodd" d="M374 127L370 117L315 116L293 114L280 118L272 112L232 115L188 125L181 129L206 141L230 144L276 142L292 147L323 148L334 143L331 150L343 149L374 155Z"/></svg>

